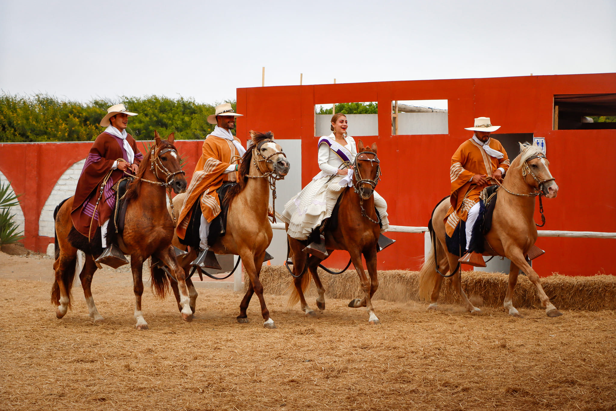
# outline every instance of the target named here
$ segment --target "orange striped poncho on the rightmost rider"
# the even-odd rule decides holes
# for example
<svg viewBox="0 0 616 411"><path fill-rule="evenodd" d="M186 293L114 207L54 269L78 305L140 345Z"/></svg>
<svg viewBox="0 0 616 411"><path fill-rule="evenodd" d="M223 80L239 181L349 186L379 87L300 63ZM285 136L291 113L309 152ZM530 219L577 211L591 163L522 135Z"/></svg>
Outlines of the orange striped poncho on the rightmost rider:
<svg viewBox="0 0 616 411"><path fill-rule="evenodd" d="M451 205L445 216L445 231L449 237L453 235L460 220L466 221L468 211L479 201L479 194L485 188L471 184L472 176L490 176L497 168L502 168L505 172L509 168L507 152L500 141L490 137L488 146L503 153L503 158L488 155L472 138L460 144L453 154L452 166L449 169L452 181Z"/></svg>

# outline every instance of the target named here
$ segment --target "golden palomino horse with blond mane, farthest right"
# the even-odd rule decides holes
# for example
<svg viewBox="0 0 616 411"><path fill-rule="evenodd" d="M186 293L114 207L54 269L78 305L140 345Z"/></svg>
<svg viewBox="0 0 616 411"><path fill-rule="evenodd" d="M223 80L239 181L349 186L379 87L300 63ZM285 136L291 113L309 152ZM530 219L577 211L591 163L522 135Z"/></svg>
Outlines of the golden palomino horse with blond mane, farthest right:
<svg viewBox="0 0 616 411"><path fill-rule="evenodd" d="M503 306L509 310L509 315L521 317L513 306L513 290L516 287L518 269L524 271L529 280L537 288L537 295L541 306L545 307L548 317L562 315L560 311L549 302L548 296L541 287L541 280L537 272L530 267L526 260L527 254L537 240L537 227L533 213L535 211L535 197L539 193L547 198L554 198L558 193L558 185L549 172L549 161L537 145L520 144L520 154L512 161L505 176L503 184L498 189L496 205L492 216L492 229L485 235L484 255L500 255L511 260L509 268L509 287ZM447 197L448 199L449 197ZM419 296L430 300L428 309L436 309L437 300L442 283L442 275L453 267L459 267L458 256L447 251L445 245L444 218L449 208L449 201L442 200L432 214L432 235L436 235L436 251L432 246L426 261L419 272ZM492 250L492 251L488 251ZM434 253L436 252L436 258ZM438 262L438 267L436 264ZM455 268L454 268L455 269ZM455 269L456 270L456 269ZM453 274L453 287L458 291L463 305L470 312L480 312L474 307L462 290L460 270Z"/></svg>

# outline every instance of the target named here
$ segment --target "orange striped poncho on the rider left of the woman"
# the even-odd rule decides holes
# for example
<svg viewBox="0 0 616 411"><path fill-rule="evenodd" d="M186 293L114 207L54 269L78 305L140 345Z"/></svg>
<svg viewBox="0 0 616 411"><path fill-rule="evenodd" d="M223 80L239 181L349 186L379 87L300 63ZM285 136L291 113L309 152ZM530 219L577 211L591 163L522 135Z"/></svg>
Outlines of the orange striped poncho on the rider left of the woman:
<svg viewBox="0 0 616 411"><path fill-rule="evenodd" d="M235 136L233 139L240 142ZM201 212L208 222L221 212L216 190L221 188L224 182L237 181L236 171L229 174L224 174L224 171L230 165L240 163L239 159L240 154L230 140L211 135L205 139L201 158L195 166L195 173L186 190L186 198L180 211L176 229L178 237L185 237L190 222L190 210L199 198L201 198Z"/></svg>

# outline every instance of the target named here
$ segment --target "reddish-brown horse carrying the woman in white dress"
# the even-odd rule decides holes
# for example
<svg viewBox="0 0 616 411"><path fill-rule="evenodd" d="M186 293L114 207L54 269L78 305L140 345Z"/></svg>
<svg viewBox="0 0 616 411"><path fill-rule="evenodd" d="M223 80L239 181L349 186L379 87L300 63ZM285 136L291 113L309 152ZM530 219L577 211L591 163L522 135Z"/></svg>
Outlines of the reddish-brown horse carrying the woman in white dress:
<svg viewBox="0 0 616 411"><path fill-rule="evenodd" d="M381 235L372 195L381 175L381 166L378 157L376 157L376 144L371 145L370 148L363 147L362 140L359 140L354 168L353 188L346 187L340 194L339 210L341 212L338 213L338 227L334 230L329 230L327 226L325 228L325 248L330 255L333 250L349 252L353 266L359 274L364 293L363 299L353 299L349 303L349 307L366 307L368 322L379 324L371 301L379 287L379 280L376 275L376 251L378 250L379 235ZM286 237L290 246L290 256L293 260L291 274L293 274L295 286L290 287L291 294L287 305L293 307L300 301L302 311L307 316L314 317L317 314L308 306L304 297L304 291L310 285L310 276L306 274L306 271L310 272L315 285L317 285L317 307L324 310L325 288L323 288L317 273L318 264L323 260L315 255L309 256L302 251L306 247L307 240L296 240L289 235ZM368 282L366 272L363 269L362 254L366 260L370 282Z"/></svg>

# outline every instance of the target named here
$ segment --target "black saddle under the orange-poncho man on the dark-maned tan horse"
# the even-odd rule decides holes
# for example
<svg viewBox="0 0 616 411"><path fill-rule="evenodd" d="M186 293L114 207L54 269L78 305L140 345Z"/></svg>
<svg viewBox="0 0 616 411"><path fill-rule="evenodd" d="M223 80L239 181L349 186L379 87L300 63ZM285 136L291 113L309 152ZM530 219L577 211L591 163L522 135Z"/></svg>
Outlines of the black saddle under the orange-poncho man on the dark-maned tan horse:
<svg viewBox="0 0 616 411"><path fill-rule="evenodd" d="M237 182L225 182L221 188L216 190L218 200L221 203L221 212L214 218L209 226L208 244L214 245L219 237L222 237L227 232L227 214L229 213L229 205L225 204L224 198L231 187L237 185ZM192 205L190 210L190 221L186 227L185 237L179 238L180 243L189 245L192 248L198 248L201 242L199 236L199 227L201 226L201 201L197 200Z"/></svg>

